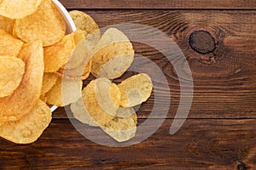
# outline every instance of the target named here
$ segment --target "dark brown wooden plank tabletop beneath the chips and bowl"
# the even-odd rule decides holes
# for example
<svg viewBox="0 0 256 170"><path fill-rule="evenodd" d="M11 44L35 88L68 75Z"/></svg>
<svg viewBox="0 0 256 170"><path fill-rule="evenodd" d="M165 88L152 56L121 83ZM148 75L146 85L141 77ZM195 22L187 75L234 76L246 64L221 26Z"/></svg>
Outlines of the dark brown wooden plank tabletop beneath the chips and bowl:
<svg viewBox="0 0 256 170"><path fill-rule="evenodd" d="M1 169L256 169L256 1L61 3L90 14L100 27L129 21L172 37L194 78L189 117L177 133L169 134L180 98L176 72L163 54L134 42L136 53L154 60L171 87L170 111L156 133L140 144L106 147L85 139L64 109L58 109L37 142L20 145L0 139ZM139 122L150 114L153 98L137 111Z"/></svg>

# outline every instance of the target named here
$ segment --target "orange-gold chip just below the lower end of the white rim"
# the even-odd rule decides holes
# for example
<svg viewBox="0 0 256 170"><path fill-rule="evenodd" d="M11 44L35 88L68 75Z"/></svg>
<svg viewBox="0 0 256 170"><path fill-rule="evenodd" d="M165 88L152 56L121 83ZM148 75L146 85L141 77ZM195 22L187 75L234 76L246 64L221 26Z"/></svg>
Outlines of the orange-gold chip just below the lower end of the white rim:
<svg viewBox="0 0 256 170"><path fill-rule="evenodd" d="M73 34L69 34L61 39L60 42L44 48L44 71L58 71L65 65L69 55L75 48Z"/></svg>

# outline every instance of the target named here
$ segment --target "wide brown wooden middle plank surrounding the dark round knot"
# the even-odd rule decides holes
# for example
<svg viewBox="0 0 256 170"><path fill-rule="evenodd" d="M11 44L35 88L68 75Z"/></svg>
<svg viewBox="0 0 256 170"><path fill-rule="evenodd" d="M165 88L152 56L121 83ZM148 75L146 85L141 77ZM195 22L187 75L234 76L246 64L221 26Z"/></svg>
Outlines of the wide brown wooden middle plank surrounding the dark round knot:
<svg viewBox="0 0 256 170"><path fill-rule="evenodd" d="M194 78L194 99L190 118L255 118L256 117L256 11L229 10L84 10L101 28L125 22L153 26L177 42L189 61ZM189 36L195 31L208 31L214 38L216 49L199 54L190 48ZM135 31L136 32L136 31ZM152 35L154 32L152 32ZM152 37L144 37L151 41ZM199 37L200 38L200 37ZM161 43L161 41L159 40ZM171 105L168 117L176 115L180 99L177 74L163 54L148 45L133 42L137 54L154 61L166 75L171 88ZM163 44L164 45L164 44ZM148 63L141 65L150 72ZM152 72L152 71L151 71ZM120 82L133 75L127 72ZM169 89L163 88L153 74L155 92L160 93L160 104L169 99ZM156 79L155 79L156 78ZM92 80L90 77L84 85ZM138 111L141 118L148 117L154 104L154 94ZM158 111L163 111L159 107ZM55 117L65 117L63 110Z"/></svg>

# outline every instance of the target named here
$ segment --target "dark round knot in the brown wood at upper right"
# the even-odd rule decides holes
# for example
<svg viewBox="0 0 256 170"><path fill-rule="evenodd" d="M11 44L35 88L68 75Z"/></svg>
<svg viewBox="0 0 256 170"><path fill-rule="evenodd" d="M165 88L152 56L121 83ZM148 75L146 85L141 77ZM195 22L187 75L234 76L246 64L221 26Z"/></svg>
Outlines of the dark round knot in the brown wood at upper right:
<svg viewBox="0 0 256 170"><path fill-rule="evenodd" d="M189 37L189 44L199 54L209 54L216 48L215 40L208 31L194 31Z"/></svg>

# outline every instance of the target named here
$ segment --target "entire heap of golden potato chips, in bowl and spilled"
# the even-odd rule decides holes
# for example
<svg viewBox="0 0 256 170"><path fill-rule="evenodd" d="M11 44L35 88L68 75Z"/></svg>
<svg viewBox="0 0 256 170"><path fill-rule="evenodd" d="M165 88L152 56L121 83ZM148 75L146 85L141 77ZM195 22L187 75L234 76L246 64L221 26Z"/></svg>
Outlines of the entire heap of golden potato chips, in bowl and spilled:
<svg viewBox="0 0 256 170"><path fill-rule="evenodd" d="M36 141L49 126L49 105L71 104L73 115L102 127L119 142L135 136L137 114L152 82L146 74L127 78L134 50L125 34L110 28L101 37L96 22L80 11L67 26L51 0L0 1L0 136L18 144ZM96 80L83 90L90 73ZM65 91L63 91L65 86ZM79 89L79 90L77 90Z"/></svg>

